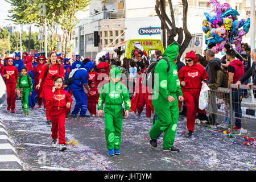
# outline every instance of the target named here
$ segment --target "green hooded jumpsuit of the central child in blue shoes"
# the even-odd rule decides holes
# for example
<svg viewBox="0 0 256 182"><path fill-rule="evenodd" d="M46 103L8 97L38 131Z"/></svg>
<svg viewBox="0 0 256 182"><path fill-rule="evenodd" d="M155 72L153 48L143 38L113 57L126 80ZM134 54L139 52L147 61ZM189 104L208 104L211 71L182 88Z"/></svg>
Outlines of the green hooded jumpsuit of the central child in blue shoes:
<svg viewBox="0 0 256 182"><path fill-rule="evenodd" d="M121 71L113 67L109 73L110 82L103 85L98 99L98 110L102 110L105 102L105 137L106 146L110 149L120 149L123 108L122 103L125 102L125 110L130 111L131 101L129 92L125 85L121 84L120 80L114 84L112 78L116 76L121 78Z"/></svg>

